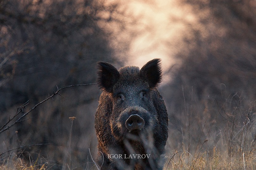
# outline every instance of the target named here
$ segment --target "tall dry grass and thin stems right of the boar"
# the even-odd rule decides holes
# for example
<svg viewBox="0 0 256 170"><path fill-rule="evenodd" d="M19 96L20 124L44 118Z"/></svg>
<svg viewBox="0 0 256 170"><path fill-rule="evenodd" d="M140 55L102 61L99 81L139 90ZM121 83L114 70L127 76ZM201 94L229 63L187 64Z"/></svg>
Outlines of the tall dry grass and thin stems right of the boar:
<svg viewBox="0 0 256 170"><path fill-rule="evenodd" d="M203 107L197 101L202 107L200 109L198 105L193 106L195 100L188 102L184 98L187 109L181 115L182 142L180 146L174 146L180 151L172 148L172 153L173 150L168 150L164 169L256 169L255 101L245 102L241 96L234 99L223 94L222 101L217 105L208 100L203 102ZM172 129L169 135L172 142L168 147L174 143L173 134L176 134L176 140L178 138Z"/></svg>

